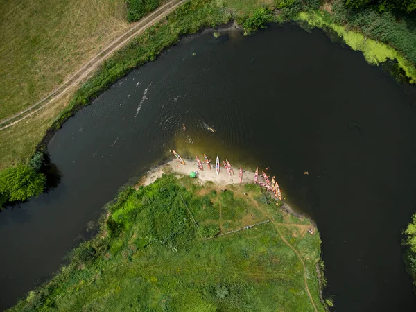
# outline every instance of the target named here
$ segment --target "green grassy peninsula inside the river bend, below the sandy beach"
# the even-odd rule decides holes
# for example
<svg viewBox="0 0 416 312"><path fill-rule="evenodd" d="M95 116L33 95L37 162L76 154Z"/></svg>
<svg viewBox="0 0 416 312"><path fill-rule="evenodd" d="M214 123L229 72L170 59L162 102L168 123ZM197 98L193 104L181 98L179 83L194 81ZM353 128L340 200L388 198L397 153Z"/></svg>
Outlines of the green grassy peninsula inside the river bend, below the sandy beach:
<svg viewBox="0 0 416 312"><path fill-rule="evenodd" d="M254 184L227 189L168 175L124 191L96 238L11 311L324 311L318 232Z"/></svg>

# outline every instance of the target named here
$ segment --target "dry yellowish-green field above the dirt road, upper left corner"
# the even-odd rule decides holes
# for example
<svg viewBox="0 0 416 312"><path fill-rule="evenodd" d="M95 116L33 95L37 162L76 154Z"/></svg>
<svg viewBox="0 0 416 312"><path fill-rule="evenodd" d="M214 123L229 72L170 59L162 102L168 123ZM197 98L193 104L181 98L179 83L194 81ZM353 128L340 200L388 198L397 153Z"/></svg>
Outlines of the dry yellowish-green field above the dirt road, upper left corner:
<svg viewBox="0 0 416 312"><path fill-rule="evenodd" d="M0 119L22 110L127 29L124 0L4 0Z"/></svg>

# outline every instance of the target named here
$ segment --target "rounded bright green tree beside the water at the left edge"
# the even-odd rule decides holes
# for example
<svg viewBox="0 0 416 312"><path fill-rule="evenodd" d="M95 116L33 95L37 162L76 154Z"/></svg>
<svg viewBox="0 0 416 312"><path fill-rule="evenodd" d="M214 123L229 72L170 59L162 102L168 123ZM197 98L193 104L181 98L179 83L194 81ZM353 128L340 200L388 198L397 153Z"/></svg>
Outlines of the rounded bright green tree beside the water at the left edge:
<svg viewBox="0 0 416 312"><path fill-rule="evenodd" d="M0 193L9 201L26 200L44 191L46 177L30 166L19 165L0 172Z"/></svg>

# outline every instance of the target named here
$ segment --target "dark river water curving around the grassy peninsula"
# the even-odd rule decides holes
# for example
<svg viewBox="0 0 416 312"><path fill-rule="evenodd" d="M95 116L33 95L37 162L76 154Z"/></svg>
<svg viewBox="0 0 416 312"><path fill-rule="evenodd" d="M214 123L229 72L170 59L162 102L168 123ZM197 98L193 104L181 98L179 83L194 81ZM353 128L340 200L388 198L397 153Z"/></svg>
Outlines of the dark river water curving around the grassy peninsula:
<svg viewBox="0 0 416 312"><path fill-rule="evenodd" d="M177 148L270 166L318 224L336 311L416 311L400 246L416 211L409 104L321 31L182 40L64 124L49 144L58 188L0 214L0 307L57 270L117 189Z"/></svg>

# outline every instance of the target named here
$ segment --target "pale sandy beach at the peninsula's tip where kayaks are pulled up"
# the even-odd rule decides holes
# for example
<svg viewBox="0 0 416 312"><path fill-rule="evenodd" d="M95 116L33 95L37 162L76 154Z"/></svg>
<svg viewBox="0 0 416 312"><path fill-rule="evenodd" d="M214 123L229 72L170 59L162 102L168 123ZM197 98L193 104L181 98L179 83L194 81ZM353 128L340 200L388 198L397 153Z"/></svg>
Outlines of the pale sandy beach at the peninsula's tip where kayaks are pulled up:
<svg viewBox="0 0 416 312"><path fill-rule="evenodd" d="M240 167L233 166L234 175L229 176L227 170L225 170L222 160L220 166L220 173L217 175L215 170L215 162L214 166L212 166L211 162L211 170L209 170L206 164L202 164L204 170L201 171L196 163L196 160L186 160L186 164L180 164L177 160L172 160L171 162L167 162L162 166L157 166L156 168L151 169L146 173L146 175L141 179L139 185L148 185L150 183L155 182L155 180L159 177L162 177L163 173L179 173L180 175L189 175L191 171L198 171L198 177L195 179L196 182L204 183L206 181L212 181L216 184L220 185L227 185L233 183L239 183L239 171ZM243 168L243 182L242 183L253 183L254 182L254 172L252 171L245 171Z"/></svg>

